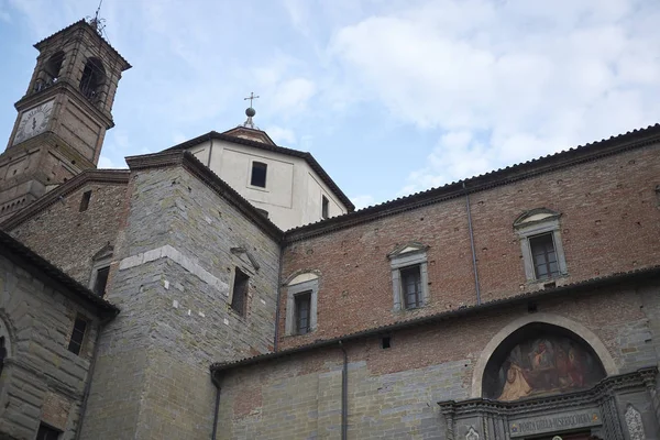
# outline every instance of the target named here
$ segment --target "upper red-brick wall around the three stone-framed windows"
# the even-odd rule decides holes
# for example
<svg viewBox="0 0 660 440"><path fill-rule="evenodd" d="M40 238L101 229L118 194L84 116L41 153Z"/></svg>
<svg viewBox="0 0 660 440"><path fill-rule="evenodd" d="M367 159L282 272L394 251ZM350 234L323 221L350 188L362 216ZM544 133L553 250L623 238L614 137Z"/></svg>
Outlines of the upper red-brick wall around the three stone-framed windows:
<svg viewBox="0 0 660 440"><path fill-rule="evenodd" d="M513 228L535 208L561 213L569 275L558 285L659 264L659 157L656 144L470 195L482 301L540 287L526 279ZM429 301L397 312L387 254L414 241L429 246ZM320 278L317 330L280 338L282 348L476 302L462 197L290 242L283 258L283 279L305 271ZM280 307L284 336L286 290Z"/></svg>

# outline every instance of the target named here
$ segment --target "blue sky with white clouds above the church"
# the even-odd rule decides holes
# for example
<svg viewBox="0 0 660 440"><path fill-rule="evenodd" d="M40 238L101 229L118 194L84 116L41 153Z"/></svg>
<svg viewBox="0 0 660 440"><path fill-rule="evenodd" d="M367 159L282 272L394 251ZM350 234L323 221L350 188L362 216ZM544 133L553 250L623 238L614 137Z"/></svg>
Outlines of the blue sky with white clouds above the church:
<svg viewBox="0 0 660 440"><path fill-rule="evenodd" d="M0 143L34 43L98 0L0 0ZM245 120L358 208L660 122L658 0L103 0L99 167Z"/></svg>

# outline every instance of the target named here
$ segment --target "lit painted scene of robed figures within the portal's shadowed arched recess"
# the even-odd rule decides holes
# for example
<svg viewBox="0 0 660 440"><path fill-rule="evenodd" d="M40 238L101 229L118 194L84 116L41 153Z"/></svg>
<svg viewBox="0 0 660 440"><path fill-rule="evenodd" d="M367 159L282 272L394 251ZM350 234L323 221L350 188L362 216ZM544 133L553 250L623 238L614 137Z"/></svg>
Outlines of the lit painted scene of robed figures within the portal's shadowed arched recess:
<svg viewBox="0 0 660 440"><path fill-rule="evenodd" d="M499 369L498 400L564 393L604 377L594 355L569 338L537 338L516 345Z"/></svg>

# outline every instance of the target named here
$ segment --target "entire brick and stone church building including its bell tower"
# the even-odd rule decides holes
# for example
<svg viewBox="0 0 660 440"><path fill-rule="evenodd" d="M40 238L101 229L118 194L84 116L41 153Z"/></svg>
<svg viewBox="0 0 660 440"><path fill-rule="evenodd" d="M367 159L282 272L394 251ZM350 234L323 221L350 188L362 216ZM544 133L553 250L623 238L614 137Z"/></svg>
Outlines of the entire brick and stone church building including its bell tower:
<svg viewBox="0 0 660 440"><path fill-rule="evenodd" d="M96 169L37 43L0 155L0 439L660 439L660 125L359 211L253 122Z"/></svg>

